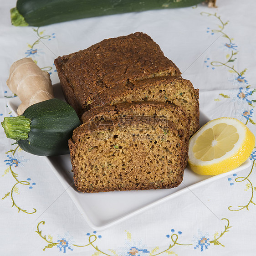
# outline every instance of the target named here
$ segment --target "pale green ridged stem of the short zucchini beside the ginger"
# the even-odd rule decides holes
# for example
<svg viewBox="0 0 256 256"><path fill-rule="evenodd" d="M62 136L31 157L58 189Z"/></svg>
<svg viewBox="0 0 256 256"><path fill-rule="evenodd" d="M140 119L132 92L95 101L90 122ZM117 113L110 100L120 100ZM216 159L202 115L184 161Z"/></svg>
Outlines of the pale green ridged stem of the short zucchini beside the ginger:
<svg viewBox="0 0 256 256"><path fill-rule="evenodd" d="M2 127L5 130L7 138L12 138L15 140L26 140L28 138L28 133L30 132L30 123L29 118L25 116L4 118L2 122Z"/></svg>

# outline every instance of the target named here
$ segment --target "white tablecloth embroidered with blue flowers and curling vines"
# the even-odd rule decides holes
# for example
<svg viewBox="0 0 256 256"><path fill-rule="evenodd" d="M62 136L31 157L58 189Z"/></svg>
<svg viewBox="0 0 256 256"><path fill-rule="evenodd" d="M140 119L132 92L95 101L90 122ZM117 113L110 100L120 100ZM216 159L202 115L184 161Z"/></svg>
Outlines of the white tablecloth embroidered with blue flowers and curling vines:
<svg viewBox="0 0 256 256"><path fill-rule="evenodd" d="M142 31L200 89L207 118L234 117L256 134L256 1L217 5L15 27L15 0L0 0L1 121L12 115L6 80L14 61L31 57L56 84L57 56ZM0 139L0 255L256 255L255 150L248 168L95 230L45 158L21 151L3 129Z"/></svg>

